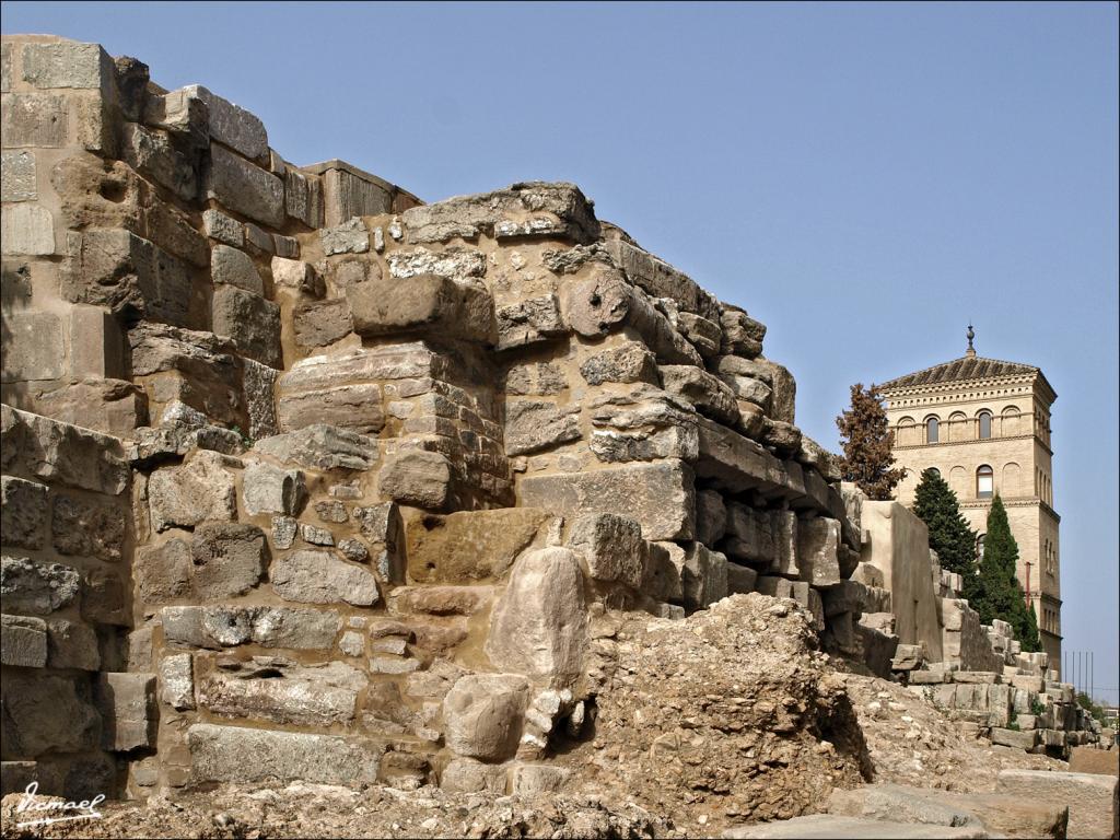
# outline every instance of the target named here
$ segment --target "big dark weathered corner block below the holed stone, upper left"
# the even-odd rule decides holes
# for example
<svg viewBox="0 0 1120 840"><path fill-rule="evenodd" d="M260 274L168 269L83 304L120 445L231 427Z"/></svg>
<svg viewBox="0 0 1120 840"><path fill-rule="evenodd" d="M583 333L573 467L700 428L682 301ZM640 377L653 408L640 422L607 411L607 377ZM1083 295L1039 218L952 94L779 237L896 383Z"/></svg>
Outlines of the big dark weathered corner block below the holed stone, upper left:
<svg viewBox="0 0 1120 840"><path fill-rule="evenodd" d="M67 240L63 295L129 320L192 323L190 272L180 260L125 230L86 230Z"/></svg>

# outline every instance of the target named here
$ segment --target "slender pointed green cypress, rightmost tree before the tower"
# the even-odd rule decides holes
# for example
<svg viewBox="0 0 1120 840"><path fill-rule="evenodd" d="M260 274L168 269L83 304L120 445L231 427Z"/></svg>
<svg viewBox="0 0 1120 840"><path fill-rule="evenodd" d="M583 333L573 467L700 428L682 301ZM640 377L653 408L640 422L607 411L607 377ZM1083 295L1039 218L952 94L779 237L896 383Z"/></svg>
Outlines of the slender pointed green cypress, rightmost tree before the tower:
<svg viewBox="0 0 1120 840"><path fill-rule="evenodd" d="M980 620L991 624L999 618L1011 625L1024 651L1037 651L1038 625L1034 610L1024 600L1023 587L1016 577L1019 547L1011 535L1004 501L996 495L988 512L988 533L983 539L980 570L969 597L969 604L980 614Z"/></svg>

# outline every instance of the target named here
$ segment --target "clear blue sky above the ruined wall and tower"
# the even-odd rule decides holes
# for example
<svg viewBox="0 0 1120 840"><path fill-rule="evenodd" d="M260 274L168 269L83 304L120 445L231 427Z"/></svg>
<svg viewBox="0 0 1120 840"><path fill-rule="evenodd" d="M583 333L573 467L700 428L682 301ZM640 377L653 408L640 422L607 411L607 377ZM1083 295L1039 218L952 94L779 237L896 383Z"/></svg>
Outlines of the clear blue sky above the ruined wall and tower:
<svg viewBox="0 0 1120 840"><path fill-rule="evenodd" d="M1114 3L15 3L427 200L572 180L769 326L834 448L852 382L1039 365L1065 644L1118 700Z"/></svg>

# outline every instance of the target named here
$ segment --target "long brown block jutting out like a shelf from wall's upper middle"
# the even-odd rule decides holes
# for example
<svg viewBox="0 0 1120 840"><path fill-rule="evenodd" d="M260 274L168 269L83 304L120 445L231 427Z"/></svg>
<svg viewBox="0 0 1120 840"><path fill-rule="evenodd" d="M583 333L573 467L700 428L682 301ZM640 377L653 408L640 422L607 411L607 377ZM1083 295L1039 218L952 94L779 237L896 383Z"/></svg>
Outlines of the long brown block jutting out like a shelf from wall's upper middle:
<svg viewBox="0 0 1120 840"><path fill-rule="evenodd" d="M408 282L367 280L346 288L354 332L363 336L433 330L452 338L493 344L494 299L485 287L418 274Z"/></svg>

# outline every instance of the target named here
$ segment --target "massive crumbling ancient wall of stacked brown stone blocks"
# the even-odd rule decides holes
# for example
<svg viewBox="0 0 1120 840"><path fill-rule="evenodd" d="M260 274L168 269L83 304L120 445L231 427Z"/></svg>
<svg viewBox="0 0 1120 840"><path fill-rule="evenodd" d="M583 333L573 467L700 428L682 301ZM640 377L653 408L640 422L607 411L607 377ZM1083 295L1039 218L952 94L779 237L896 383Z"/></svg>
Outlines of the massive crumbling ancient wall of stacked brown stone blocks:
<svg viewBox="0 0 1120 840"><path fill-rule="evenodd" d="M597 732L739 744L664 684L755 739L692 790L793 816L799 773L867 776L818 648L993 739L1089 737L921 523L868 525L766 327L578 187L424 204L97 45L4 38L2 68L4 792L550 792ZM814 664L725 684L693 646L736 634Z"/></svg>

